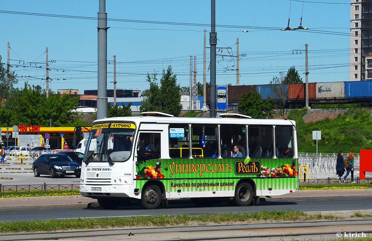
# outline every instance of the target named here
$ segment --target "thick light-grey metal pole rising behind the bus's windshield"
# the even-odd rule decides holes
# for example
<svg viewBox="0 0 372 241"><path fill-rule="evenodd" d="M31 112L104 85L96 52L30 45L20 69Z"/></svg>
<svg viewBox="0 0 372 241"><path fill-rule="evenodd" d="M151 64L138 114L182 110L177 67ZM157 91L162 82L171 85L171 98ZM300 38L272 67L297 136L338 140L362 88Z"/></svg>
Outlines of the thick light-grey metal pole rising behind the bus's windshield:
<svg viewBox="0 0 372 241"><path fill-rule="evenodd" d="M107 117L107 13L106 0L99 0L98 12L97 119Z"/></svg>

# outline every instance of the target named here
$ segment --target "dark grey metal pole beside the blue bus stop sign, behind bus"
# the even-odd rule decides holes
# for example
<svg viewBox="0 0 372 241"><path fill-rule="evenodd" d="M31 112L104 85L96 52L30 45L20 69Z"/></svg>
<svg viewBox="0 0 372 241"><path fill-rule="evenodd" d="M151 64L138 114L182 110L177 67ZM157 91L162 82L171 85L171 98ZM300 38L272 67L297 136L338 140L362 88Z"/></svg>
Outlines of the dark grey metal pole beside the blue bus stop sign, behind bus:
<svg viewBox="0 0 372 241"><path fill-rule="evenodd" d="M209 44L211 45L211 93L210 93L210 117L216 118L216 0L211 0L211 32L209 33Z"/></svg>

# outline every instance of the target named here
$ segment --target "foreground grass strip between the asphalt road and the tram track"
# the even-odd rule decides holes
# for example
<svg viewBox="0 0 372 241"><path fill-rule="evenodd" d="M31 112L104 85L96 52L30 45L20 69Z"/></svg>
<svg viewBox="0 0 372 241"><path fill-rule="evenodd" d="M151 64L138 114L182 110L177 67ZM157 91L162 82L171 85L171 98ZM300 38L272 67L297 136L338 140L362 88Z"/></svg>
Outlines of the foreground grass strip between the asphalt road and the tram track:
<svg viewBox="0 0 372 241"><path fill-rule="evenodd" d="M362 214L359 214L362 215ZM48 221L17 221L1 222L0 232L41 232L70 229L107 229L132 226L182 226L182 225L211 225L232 224L237 222L268 222L268 221L316 221L340 220L339 215L308 215L299 211L263 211L255 213L218 214L218 215L159 215L134 216L130 218L97 218L97 219L62 219Z"/></svg>

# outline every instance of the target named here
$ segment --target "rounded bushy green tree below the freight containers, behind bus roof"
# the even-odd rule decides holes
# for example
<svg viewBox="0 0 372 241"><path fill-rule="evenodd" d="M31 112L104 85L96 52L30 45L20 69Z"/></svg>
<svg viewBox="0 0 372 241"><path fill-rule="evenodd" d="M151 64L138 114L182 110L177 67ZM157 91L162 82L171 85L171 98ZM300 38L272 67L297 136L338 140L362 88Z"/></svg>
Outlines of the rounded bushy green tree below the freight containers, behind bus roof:
<svg viewBox="0 0 372 241"><path fill-rule="evenodd" d="M270 97L269 100L263 100L259 93L248 92L242 95L238 110L255 119L272 118L273 103L274 101Z"/></svg>

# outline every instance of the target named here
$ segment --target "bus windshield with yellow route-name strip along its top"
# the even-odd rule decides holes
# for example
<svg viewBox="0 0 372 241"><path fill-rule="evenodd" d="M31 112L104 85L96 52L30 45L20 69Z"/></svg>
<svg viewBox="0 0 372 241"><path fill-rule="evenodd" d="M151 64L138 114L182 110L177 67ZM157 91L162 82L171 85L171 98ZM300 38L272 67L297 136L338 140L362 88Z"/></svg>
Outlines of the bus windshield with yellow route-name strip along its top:
<svg viewBox="0 0 372 241"><path fill-rule="evenodd" d="M104 123L92 126L84 154L84 162L127 161L131 155L135 125Z"/></svg>

